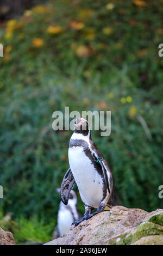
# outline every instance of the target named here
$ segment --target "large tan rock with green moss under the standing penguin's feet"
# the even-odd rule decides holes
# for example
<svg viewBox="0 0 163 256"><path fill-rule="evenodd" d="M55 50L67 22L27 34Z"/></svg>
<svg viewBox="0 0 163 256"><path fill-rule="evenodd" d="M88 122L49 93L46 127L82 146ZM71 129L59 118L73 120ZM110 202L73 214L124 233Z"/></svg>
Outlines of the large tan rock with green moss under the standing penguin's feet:
<svg viewBox="0 0 163 256"><path fill-rule="evenodd" d="M45 245L163 245L163 209L114 206Z"/></svg>

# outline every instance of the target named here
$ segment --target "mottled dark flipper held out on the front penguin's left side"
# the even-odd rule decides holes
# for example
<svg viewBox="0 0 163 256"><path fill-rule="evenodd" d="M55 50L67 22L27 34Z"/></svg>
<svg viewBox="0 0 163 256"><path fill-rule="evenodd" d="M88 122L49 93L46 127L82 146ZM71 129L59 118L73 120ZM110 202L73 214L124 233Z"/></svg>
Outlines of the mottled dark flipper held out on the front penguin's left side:
<svg viewBox="0 0 163 256"><path fill-rule="evenodd" d="M64 179L62 180L61 188L60 188L60 197L62 202L67 205L68 199L70 196L70 191L72 190L75 180L73 177L73 174L71 172L71 169L69 168L64 176Z"/></svg>

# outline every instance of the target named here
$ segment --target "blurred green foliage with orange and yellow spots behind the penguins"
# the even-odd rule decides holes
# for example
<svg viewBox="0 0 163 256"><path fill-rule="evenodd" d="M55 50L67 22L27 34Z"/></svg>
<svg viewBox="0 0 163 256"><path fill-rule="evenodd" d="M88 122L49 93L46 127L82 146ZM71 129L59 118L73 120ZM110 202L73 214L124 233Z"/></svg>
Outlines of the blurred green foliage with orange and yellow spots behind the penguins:
<svg viewBox="0 0 163 256"><path fill-rule="evenodd" d="M161 0L55 0L1 23L0 225L17 243L52 238L72 134L53 131L52 113L65 106L111 111L111 135L92 138L119 204L163 208L162 14Z"/></svg>

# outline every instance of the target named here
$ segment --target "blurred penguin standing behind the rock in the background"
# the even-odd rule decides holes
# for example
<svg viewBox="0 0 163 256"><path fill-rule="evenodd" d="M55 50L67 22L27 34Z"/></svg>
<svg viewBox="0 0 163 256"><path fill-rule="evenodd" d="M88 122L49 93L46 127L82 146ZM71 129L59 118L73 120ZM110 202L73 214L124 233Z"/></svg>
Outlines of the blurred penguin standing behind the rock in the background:
<svg viewBox="0 0 163 256"><path fill-rule="evenodd" d="M60 188L57 188L57 192L60 194ZM62 202L59 204L58 224L54 229L53 239L64 235L70 229L71 223L77 221L80 217L77 209L77 195L71 190L68 204L65 205Z"/></svg>

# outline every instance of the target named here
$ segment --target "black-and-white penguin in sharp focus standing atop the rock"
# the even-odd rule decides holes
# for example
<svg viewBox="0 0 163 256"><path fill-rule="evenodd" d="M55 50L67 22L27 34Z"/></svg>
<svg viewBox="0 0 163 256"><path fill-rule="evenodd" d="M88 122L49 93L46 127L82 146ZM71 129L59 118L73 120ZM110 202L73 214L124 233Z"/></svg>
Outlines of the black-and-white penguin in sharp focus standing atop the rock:
<svg viewBox="0 0 163 256"><path fill-rule="evenodd" d="M102 153L92 141L90 124L83 118L74 119L74 132L68 148L70 168L62 180L60 196L67 205L70 191L76 183L85 206L85 214L74 221L77 226L103 210L118 205L114 178ZM92 210L97 209L95 212Z"/></svg>

